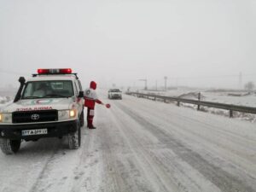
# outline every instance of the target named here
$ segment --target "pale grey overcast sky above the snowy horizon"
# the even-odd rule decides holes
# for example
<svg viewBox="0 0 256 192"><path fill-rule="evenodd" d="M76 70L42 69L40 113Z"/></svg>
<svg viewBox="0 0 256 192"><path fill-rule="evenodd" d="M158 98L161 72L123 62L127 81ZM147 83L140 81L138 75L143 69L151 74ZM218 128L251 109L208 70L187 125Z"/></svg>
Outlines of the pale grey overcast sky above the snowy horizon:
<svg viewBox="0 0 256 192"><path fill-rule="evenodd" d="M256 1L0 0L0 87L40 67L84 88L256 83Z"/></svg>

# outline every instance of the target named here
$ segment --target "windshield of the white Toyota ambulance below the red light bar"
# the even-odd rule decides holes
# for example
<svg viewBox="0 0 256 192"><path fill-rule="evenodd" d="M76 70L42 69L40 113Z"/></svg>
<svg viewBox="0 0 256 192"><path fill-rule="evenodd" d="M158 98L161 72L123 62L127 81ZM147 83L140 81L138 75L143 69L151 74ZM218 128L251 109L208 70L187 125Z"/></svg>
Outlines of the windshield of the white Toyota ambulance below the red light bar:
<svg viewBox="0 0 256 192"><path fill-rule="evenodd" d="M68 80L30 81L22 94L22 99L60 98L73 96L73 82Z"/></svg>

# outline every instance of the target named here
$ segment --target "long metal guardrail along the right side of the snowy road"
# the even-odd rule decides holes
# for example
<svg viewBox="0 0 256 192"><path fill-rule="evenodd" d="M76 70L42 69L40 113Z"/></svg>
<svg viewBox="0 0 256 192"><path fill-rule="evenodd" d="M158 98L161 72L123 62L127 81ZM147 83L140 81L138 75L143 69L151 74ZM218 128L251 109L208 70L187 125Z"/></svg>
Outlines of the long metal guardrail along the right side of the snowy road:
<svg viewBox="0 0 256 192"><path fill-rule="evenodd" d="M224 103L219 103L219 102L203 102L200 100L183 99L183 98L173 97L173 96L158 96L158 95L138 93L138 92L126 92L126 94L132 95L132 96L148 98L148 99L153 99L153 100L162 99L164 102L174 101L174 102L177 102L177 106L179 106L181 102L195 104L195 105L197 105L197 110L200 110L201 106L205 106L208 108L226 109L226 110L230 111L230 118L233 117L233 111L256 114L256 108L246 107L246 106L224 104Z"/></svg>

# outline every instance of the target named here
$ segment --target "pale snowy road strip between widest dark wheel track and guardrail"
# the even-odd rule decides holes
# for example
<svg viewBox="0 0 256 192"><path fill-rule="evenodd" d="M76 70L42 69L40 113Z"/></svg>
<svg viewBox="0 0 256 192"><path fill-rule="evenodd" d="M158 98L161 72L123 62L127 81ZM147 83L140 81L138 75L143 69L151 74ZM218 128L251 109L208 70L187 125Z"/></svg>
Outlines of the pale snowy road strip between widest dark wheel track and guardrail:
<svg viewBox="0 0 256 192"><path fill-rule="evenodd" d="M132 106L136 102L130 100L125 102L125 106ZM137 105L137 113L145 120L154 119L154 125L168 134L181 137L190 148L200 150L204 159L216 166L221 165L226 172L231 172L244 183L254 186L253 189L256 188L256 132L253 124L207 113L194 115L189 110L166 105L162 105L163 111L160 114L159 110L152 110L152 104L155 106L154 102L141 101Z"/></svg>

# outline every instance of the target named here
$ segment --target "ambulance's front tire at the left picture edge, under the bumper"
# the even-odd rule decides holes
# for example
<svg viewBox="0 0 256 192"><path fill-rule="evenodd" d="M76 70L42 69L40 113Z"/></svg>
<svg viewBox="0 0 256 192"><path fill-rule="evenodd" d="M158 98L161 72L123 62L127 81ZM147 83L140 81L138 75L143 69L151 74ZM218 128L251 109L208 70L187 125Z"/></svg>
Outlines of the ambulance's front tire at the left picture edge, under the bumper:
<svg viewBox="0 0 256 192"><path fill-rule="evenodd" d="M20 140L0 139L0 148L4 154L15 154L20 149Z"/></svg>

